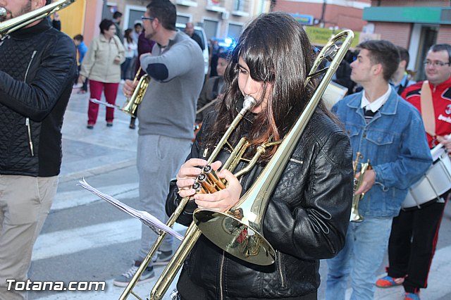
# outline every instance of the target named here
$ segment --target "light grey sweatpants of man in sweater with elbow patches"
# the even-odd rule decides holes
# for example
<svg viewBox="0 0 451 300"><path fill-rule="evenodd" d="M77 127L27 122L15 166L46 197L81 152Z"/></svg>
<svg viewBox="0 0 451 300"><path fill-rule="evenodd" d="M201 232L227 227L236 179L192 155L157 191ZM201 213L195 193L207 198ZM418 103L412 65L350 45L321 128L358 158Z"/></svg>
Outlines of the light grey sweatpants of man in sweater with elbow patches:
<svg viewBox="0 0 451 300"><path fill-rule="evenodd" d="M166 223L165 205L169 182L175 178L190 151L190 139L175 139L162 135L140 135L138 137L137 169L140 176L140 210L147 211ZM137 261L142 261L156 241L156 234L142 225L141 249ZM166 235L160 251L172 250L173 238Z"/></svg>

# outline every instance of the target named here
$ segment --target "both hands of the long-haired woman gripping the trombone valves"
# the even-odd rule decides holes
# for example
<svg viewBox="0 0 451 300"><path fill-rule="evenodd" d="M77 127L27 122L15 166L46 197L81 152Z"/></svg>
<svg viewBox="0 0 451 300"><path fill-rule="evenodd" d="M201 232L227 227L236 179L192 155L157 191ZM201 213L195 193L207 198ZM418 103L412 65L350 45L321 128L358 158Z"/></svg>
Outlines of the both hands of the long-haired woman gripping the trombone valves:
<svg viewBox="0 0 451 300"><path fill-rule="evenodd" d="M241 185L230 171L221 170L217 175L227 181L226 189L214 192L212 194L196 194L196 190L192 188L197 176L202 173L202 167L206 165L206 161L200 158L191 158L186 161L177 173L178 194L182 197L192 196L199 208L208 208L215 211L227 211L228 208L234 206L240 200ZM221 167L221 161L211 163L213 170Z"/></svg>

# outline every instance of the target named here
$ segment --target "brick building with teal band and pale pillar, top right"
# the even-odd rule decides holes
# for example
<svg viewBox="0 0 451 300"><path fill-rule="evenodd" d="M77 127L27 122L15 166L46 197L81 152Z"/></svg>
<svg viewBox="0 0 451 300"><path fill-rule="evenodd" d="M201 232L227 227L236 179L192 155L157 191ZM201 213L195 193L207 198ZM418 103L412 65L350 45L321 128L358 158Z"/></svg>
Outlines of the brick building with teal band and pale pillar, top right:
<svg viewBox="0 0 451 300"><path fill-rule="evenodd" d="M381 39L409 50L409 70L423 80L423 61L433 44L451 43L450 0L373 0L364 20Z"/></svg>

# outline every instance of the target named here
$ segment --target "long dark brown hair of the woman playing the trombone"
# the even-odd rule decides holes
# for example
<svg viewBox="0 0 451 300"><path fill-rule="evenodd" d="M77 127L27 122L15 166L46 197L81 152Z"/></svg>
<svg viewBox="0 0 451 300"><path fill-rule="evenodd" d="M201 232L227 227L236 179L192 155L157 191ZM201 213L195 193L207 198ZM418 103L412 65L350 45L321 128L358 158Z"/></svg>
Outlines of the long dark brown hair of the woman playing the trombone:
<svg viewBox="0 0 451 300"><path fill-rule="evenodd" d="M230 54L224 78L226 91L216 106L218 116L212 130L206 133L206 145L212 145L226 132L240 110L243 95L238 87L238 58L242 57L250 76L272 85L266 108L242 121L232 137L236 142L243 134L249 137L251 152L256 145L268 139L282 139L314 93L314 81L306 86L306 77L313 65L314 51L306 32L287 13L274 12L259 15L240 36ZM265 94L265 92L263 93ZM257 103L263 99L256 99ZM326 108L320 104L320 109ZM268 149L262 160L267 161L276 151Z"/></svg>

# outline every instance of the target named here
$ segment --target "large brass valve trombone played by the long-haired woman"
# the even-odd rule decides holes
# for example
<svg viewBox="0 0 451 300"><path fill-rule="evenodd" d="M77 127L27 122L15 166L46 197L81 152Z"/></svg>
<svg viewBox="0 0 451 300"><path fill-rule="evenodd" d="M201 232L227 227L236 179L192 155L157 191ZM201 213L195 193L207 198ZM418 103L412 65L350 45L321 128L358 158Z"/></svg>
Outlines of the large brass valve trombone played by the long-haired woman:
<svg viewBox="0 0 451 300"><path fill-rule="evenodd" d="M333 74L340 65L340 61L345 57L346 51L349 49L353 38L354 33L351 30L345 30L330 39L314 61L314 65L307 76L307 83L315 77L323 76L323 78L318 87L316 87L314 96L312 96L309 103L304 108L304 111L295 122L295 125L293 125L282 142L266 142L259 146L257 148L257 153L251 158L247 167L234 174L236 177L240 177L247 173L253 168L254 164L257 163L259 156L264 153L268 146L278 144L276 154L274 154L268 162L257 179L257 182L254 182L254 185L252 185L247 193L242 196L240 201L238 201L233 208L230 208L224 213L206 209L197 209L194 211L193 222L187 229L185 239L183 239L183 242L180 244L177 251L175 251L173 258L168 265L166 265L163 273L156 281L150 294L150 299L163 298L168 287L171 285L171 282L173 282L175 275L178 273L178 270L183 265L185 258L190 253L201 234L204 234L211 242L214 242L217 246L228 251L228 253L245 261L257 263L259 265L270 265L275 261L276 251L263 237L261 228L261 220L263 219L269 196L276 187L278 179L280 178L286 163L288 163L292 151L295 149L297 141L301 137L304 128L307 126L316 106L319 104L321 96L332 79ZM337 44L339 41L343 41L341 46ZM322 68L320 70L319 65L325 59L331 61L331 63L328 68ZM225 182L218 179L216 173L214 170L211 170L209 164L215 161L216 156L223 146L230 146L228 138L231 133L235 130L245 113L252 111L252 108L255 105L255 99L252 97L245 97L242 110L235 117L235 120L230 124L228 130L223 137L221 137L218 145L211 153L211 156L207 159L206 167L202 169L202 174L197 177L196 182L193 185L194 189L199 192L216 192L226 187ZM247 144L248 142L245 138L241 139L237 146L231 151L229 158L222 168L233 170L240 159L244 159L241 158L241 156L244 153L245 150L243 149L246 149ZM190 197L185 197L180 201L179 206L168 220L168 226L172 226L173 223L175 223L175 220L185 209L189 199ZM161 232L137 272L132 277L132 280L130 280L129 285L125 288L123 294L121 294L120 299L127 299L129 294L133 294L137 299L140 299L132 292L132 289L135 287L137 280L152 260L152 256L156 253L156 249L158 249L164 237L166 237L166 232Z"/></svg>

